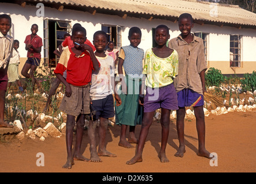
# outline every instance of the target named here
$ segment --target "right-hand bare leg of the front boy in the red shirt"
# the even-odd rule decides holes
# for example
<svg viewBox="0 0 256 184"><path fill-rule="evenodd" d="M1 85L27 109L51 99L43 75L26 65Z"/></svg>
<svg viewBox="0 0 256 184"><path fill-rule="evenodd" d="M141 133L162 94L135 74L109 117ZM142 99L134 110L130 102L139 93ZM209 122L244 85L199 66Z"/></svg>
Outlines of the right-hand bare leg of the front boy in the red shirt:
<svg viewBox="0 0 256 184"><path fill-rule="evenodd" d="M81 142L83 140L84 132L84 114L79 114L76 121L76 145L74 152L74 160L90 161L81 154Z"/></svg>

